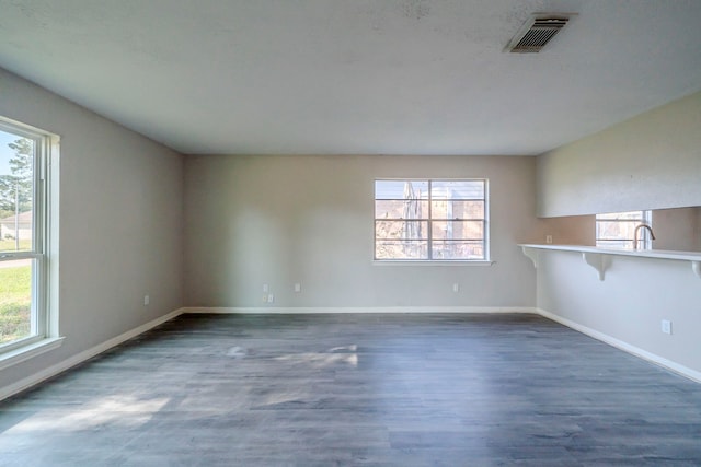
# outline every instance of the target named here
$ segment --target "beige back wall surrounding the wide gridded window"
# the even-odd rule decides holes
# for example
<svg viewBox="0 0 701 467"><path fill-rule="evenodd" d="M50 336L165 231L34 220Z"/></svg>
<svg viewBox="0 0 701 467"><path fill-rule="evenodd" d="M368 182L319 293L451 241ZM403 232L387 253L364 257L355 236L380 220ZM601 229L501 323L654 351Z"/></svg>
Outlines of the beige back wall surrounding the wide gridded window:
<svg viewBox="0 0 701 467"><path fill-rule="evenodd" d="M533 306L535 159L192 156L186 161L191 306ZM374 180L489 177L491 267L374 265ZM294 293L300 282L301 293ZM452 292L452 284L460 292Z"/></svg>

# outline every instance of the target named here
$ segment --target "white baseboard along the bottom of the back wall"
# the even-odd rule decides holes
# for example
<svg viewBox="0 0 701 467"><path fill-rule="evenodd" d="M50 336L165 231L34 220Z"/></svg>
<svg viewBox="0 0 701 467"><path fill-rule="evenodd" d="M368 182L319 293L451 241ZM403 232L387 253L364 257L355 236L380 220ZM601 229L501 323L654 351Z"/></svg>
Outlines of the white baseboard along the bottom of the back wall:
<svg viewBox="0 0 701 467"><path fill-rule="evenodd" d="M189 306L181 308L182 313L220 313L220 314L329 314L329 313L532 313L538 308L529 306L371 306L371 307L207 307Z"/></svg>

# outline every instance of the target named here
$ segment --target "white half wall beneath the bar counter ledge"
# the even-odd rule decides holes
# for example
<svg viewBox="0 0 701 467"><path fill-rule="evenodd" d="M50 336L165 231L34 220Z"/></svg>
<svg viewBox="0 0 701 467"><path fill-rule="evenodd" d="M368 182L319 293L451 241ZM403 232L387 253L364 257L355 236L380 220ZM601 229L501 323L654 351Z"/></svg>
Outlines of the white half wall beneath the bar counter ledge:
<svg viewBox="0 0 701 467"><path fill-rule="evenodd" d="M538 306L701 374L701 278L690 262L611 258L599 281L578 253L539 253Z"/></svg>

